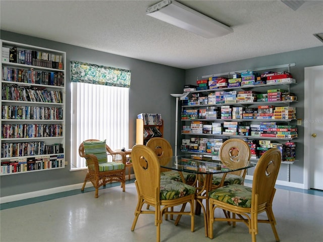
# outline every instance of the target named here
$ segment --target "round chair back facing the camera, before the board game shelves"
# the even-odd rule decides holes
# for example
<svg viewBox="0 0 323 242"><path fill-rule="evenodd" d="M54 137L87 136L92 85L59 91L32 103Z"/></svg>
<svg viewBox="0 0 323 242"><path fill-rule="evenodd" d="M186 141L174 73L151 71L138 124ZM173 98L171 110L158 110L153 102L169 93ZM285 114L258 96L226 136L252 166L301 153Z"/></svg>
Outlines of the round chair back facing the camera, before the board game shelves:
<svg viewBox="0 0 323 242"><path fill-rule="evenodd" d="M219 151L220 160L225 166L231 169L249 165L250 156L251 152L248 143L240 139L226 140ZM240 175L244 178L246 172L246 169L242 169L230 173Z"/></svg>

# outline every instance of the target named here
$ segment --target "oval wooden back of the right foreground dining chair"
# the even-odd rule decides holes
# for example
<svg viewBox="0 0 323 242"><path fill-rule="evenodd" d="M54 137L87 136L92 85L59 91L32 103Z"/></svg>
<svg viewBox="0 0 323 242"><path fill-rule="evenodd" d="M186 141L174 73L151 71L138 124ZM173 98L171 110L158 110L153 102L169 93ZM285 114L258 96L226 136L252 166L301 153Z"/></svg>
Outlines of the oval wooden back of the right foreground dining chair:
<svg viewBox="0 0 323 242"><path fill-rule="evenodd" d="M255 206L272 203L275 195L275 183L281 166L281 152L277 148L267 150L257 162L252 180L252 201ZM255 197L257 195L257 200Z"/></svg>

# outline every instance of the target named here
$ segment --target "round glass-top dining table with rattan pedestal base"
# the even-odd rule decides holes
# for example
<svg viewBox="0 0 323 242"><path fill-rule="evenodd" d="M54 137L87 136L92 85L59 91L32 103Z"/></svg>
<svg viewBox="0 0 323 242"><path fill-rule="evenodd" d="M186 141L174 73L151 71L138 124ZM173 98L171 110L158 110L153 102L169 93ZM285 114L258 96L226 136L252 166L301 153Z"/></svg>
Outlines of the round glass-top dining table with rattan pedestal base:
<svg viewBox="0 0 323 242"><path fill-rule="evenodd" d="M239 167L230 169L226 167L218 156L214 155L179 155L172 157L163 157L159 160L160 167L167 168L170 170L177 170L180 172L183 179L182 172L196 174L194 186L196 188L195 193L195 214L200 214L201 209L204 213L204 224L205 224L205 236L208 236L208 216L209 216L209 204L208 204L208 192L223 186L227 173L248 169L256 165L256 163L250 163L245 167ZM223 173L222 181L220 185L212 185L213 174ZM185 182L185 180L183 179ZM205 200L205 206L203 204ZM180 216L180 215L179 215Z"/></svg>

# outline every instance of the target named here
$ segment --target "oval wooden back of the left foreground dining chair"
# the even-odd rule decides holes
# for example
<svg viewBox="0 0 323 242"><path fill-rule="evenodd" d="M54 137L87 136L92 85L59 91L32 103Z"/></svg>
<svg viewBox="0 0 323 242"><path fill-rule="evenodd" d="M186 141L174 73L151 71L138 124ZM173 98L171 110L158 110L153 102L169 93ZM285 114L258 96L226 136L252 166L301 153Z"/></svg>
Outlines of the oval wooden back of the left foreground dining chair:
<svg viewBox="0 0 323 242"><path fill-rule="evenodd" d="M160 165L157 155L147 146L135 145L131 159L138 196L142 196L148 203L159 204Z"/></svg>

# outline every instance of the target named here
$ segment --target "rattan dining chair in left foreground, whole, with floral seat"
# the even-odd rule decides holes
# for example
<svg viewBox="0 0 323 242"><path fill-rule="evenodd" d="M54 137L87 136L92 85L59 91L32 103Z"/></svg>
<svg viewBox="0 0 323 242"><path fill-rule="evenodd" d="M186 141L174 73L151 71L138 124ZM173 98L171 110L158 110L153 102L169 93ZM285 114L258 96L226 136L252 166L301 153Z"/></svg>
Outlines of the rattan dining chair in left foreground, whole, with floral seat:
<svg viewBox="0 0 323 242"><path fill-rule="evenodd" d="M154 214L156 241L160 241L160 224L165 214L181 214L191 216L191 231L194 231L194 197L195 188L171 179L160 179L160 164L153 150L144 145L135 145L132 148L131 159L136 180L138 204L131 230L135 229L140 214ZM190 204L190 211L184 211L184 205ZM144 204L154 207L154 210L142 210ZM180 211L169 211L168 208L182 205ZM177 225L179 219L176 219Z"/></svg>

